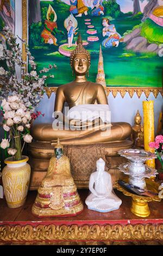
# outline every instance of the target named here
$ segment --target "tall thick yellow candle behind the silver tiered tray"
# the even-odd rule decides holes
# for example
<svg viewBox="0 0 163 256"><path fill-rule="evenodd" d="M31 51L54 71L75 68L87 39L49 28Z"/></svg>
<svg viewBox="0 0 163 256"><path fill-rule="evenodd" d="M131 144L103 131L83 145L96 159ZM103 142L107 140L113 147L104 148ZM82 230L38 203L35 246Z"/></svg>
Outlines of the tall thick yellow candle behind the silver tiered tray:
<svg viewBox="0 0 163 256"><path fill-rule="evenodd" d="M153 100L143 101L144 146L145 150L154 153L149 142L154 142L154 106ZM147 165L155 168L155 160L148 160Z"/></svg>

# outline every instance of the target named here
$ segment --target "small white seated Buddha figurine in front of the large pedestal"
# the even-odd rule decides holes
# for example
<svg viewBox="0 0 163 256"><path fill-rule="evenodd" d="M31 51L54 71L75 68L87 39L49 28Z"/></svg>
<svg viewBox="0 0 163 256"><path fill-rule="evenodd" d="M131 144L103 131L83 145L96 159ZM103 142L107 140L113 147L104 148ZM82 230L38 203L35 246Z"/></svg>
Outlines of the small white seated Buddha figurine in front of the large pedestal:
<svg viewBox="0 0 163 256"><path fill-rule="evenodd" d="M122 201L112 190L111 175L105 172L105 162L96 162L97 171L90 176L89 190L91 194L85 203L88 209L99 212L109 212L120 208Z"/></svg>

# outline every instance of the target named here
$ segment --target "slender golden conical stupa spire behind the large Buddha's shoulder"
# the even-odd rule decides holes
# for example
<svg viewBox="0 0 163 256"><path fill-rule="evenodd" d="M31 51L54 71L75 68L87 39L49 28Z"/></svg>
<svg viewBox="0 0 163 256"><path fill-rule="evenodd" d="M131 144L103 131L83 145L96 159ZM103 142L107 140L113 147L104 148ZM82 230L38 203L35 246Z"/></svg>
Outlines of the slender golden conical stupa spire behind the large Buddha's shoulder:
<svg viewBox="0 0 163 256"><path fill-rule="evenodd" d="M102 54L101 46L99 48L99 60L98 60L98 71L97 71L96 83L102 84L103 87L106 87L104 62L103 62L103 54Z"/></svg>

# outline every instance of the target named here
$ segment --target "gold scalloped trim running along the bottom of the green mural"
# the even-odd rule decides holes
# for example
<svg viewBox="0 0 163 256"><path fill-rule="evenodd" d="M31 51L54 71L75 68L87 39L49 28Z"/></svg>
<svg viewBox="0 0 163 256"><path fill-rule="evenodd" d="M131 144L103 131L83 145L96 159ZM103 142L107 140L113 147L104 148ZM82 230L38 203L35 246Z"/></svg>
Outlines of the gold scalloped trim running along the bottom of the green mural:
<svg viewBox="0 0 163 256"><path fill-rule="evenodd" d="M51 97L52 93L56 93L58 87L46 87L46 94L48 97ZM148 98L150 93L153 93L155 98L160 93L163 96L163 90L160 87L106 87L105 88L106 95L108 96L110 93L114 97L117 96L117 93L120 93L122 98L126 93L129 93L130 97L133 97L134 93L137 94L137 97L140 98L142 93L145 93L146 97Z"/></svg>

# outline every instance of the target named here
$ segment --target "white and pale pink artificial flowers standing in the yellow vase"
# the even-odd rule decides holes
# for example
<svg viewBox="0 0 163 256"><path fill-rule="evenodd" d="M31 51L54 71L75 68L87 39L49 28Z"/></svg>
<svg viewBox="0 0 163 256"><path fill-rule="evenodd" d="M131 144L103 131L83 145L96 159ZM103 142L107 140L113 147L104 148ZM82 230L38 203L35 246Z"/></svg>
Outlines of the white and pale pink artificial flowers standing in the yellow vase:
<svg viewBox="0 0 163 256"><path fill-rule="evenodd" d="M22 144L32 142L30 135L30 125L34 119L41 115L41 112L35 113L35 108L45 93L46 80L53 75L43 75L56 66L49 65L49 68L43 68L40 74L37 74L34 57L29 52L25 44L29 60L30 71L26 71L27 63L22 59L20 45L17 44L16 36L12 34L9 27L4 27L2 34L5 38L5 44L0 44L0 60L3 61L5 69L0 67L0 101L2 126L5 131L5 138L2 139L0 147L8 150L8 154L14 157L14 160L22 159ZM21 77L18 78L16 69L21 70ZM43 115L43 114L42 114ZM7 132L9 138L7 138ZM23 144L24 146L24 144Z"/></svg>

